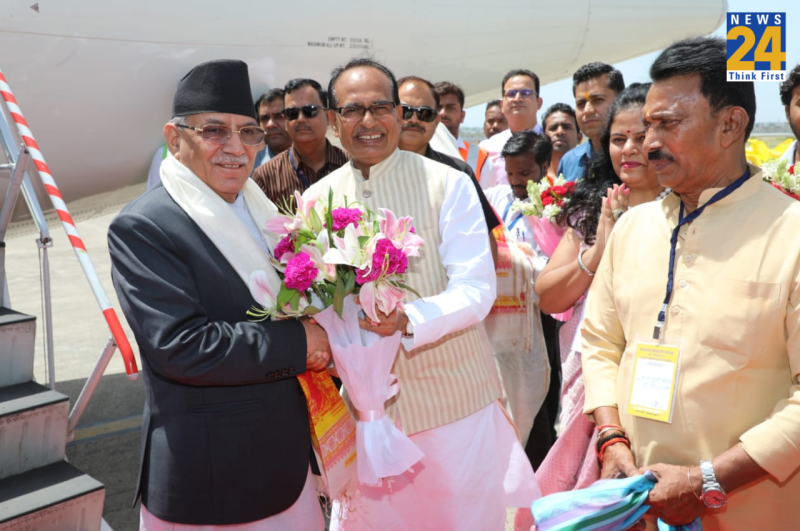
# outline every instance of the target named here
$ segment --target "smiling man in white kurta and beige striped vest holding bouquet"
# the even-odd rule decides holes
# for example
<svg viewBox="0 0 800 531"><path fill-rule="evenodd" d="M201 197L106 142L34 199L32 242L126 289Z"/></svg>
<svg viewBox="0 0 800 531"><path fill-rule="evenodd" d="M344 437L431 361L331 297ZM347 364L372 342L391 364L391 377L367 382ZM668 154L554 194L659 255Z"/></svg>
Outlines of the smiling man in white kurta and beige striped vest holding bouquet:
<svg viewBox="0 0 800 531"><path fill-rule="evenodd" d="M475 188L461 172L398 150L401 110L385 67L351 61L329 89L331 123L352 160L306 195L330 189L335 199L412 216L425 240L406 274L423 298L361 323L384 336L404 333L392 368L400 391L386 411L425 457L378 487L360 485L346 507L335 504L331 529L502 529L505 508L527 506L539 492L477 330L495 278Z"/></svg>

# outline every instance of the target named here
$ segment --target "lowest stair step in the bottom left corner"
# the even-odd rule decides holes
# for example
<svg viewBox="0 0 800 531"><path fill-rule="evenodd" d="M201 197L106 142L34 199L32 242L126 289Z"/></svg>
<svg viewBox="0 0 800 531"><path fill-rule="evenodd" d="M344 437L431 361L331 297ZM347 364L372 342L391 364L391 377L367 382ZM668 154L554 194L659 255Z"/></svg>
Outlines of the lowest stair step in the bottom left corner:
<svg viewBox="0 0 800 531"><path fill-rule="evenodd" d="M66 461L0 480L0 531L100 531L105 487Z"/></svg>

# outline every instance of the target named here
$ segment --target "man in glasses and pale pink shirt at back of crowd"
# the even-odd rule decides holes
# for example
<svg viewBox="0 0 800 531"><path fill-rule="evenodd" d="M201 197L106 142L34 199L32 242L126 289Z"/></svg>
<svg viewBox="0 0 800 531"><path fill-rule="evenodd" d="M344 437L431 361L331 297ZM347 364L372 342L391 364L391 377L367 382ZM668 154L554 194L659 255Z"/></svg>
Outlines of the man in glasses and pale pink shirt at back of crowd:
<svg viewBox="0 0 800 531"><path fill-rule="evenodd" d="M501 109L508 121L508 129L480 143L480 147L489 154L489 160L493 166L492 175L486 179L481 177L481 186L484 188L508 184L502 151L511 135L519 131L533 131L536 134L542 134L542 127L537 123L536 118L536 113L542 106L539 88L539 76L530 70L511 70L503 78L503 82L500 84L503 97Z"/></svg>

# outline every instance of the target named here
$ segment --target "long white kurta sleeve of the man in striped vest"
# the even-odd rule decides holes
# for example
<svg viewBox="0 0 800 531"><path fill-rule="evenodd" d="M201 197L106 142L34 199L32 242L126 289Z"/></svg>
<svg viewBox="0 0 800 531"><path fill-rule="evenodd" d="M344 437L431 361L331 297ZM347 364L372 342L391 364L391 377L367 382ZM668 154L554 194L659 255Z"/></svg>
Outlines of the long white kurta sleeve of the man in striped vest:
<svg viewBox="0 0 800 531"><path fill-rule="evenodd" d="M496 296L489 232L478 194L469 177L456 170L447 174L439 233L447 289L405 305L414 326L414 337L403 339L407 350L478 324L489 314Z"/></svg>

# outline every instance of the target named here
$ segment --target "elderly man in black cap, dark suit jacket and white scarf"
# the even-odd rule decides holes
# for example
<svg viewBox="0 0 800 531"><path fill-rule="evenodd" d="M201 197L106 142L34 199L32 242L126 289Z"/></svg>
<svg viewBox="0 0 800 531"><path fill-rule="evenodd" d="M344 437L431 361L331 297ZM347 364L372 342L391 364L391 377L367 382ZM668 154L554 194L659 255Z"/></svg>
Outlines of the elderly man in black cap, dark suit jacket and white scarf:
<svg viewBox="0 0 800 531"><path fill-rule="evenodd" d="M261 223L274 214L248 182L264 138L253 109L245 63L192 69L164 128L163 186L109 230L144 369L137 498L148 531L324 528L296 376L325 368L327 336L312 321L246 315L248 274L269 267Z"/></svg>

